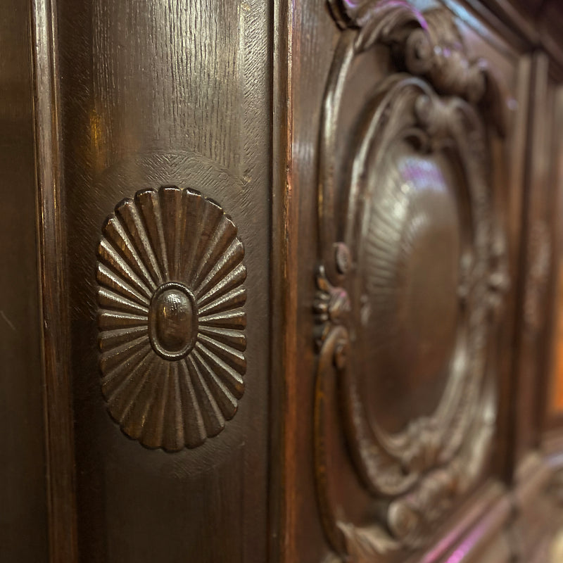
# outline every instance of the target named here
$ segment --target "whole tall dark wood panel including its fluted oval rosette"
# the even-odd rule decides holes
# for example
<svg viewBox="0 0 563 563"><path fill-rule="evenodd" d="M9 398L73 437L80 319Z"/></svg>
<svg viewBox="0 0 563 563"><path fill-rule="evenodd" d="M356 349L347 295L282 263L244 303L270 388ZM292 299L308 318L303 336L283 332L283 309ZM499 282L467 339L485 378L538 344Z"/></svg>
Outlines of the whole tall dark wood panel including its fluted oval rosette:
<svg viewBox="0 0 563 563"><path fill-rule="evenodd" d="M80 561L266 561L269 4L56 6Z"/></svg>

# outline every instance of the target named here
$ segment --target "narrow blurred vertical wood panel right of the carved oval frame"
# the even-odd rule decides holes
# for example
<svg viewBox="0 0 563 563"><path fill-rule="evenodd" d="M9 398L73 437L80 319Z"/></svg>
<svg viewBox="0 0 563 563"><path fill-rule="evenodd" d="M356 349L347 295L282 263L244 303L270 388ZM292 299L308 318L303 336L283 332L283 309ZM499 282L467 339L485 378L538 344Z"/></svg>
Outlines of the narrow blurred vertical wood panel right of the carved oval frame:
<svg viewBox="0 0 563 563"><path fill-rule="evenodd" d="M548 60L536 55L531 61L530 121L527 148L528 162L524 172L525 191L521 219L521 262L518 292L516 349L513 386L515 408L510 428L510 448L506 462L511 476L519 463L540 441L541 393L538 381L543 378L544 341L547 336L546 310L552 248L549 232L550 204L550 136L553 104L548 91ZM545 111L545 108L550 108ZM544 239L543 241L538 239Z"/></svg>

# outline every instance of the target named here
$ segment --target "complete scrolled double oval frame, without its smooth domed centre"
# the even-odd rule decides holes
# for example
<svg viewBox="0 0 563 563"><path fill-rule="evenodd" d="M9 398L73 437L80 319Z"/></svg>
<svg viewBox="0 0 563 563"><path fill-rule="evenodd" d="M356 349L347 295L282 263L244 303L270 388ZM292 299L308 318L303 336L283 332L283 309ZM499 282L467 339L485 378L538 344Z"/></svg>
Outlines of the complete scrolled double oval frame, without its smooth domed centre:
<svg viewBox="0 0 563 563"><path fill-rule="evenodd" d="M502 107L500 88L488 66L481 59L467 59L460 34L443 9L423 16L394 0L350 6L331 2L343 31L329 73L320 134L322 258L314 305L320 350L315 466L325 532L339 555L355 561L424 545L453 499L479 476L495 426L495 390L486 377L489 334L491 323L498 320L509 278L505 236L493 216L488 185L485 105L492 108L500 134L504 128L502 111L495 111ZM390 47L399 72L383 80L370 99L369 125L355 153L350 181L343 188L335 179L334 154L346 82L355 58L376 44ZM384 153L386 146L405 134L417 137L423 153L452 145L461 165L472 229L472 253L462 263L458 293L467 308L469 359L460 376L449 378L434 415L389 434L367 419L358 372L350 358L350 332L359 326L355 264L362 245L358 217L366 196L365 158L373 152L368 146L376 143L379 153ZM336 229L342 216L336 203L342 201L336 195L338 189L348 191L343 239ZM343 429L331 418L334 405L341 410ZM373 525L347 521L337 500L330 449L339 430L346 436L363 486L379 503L380 516Z"/></svg>

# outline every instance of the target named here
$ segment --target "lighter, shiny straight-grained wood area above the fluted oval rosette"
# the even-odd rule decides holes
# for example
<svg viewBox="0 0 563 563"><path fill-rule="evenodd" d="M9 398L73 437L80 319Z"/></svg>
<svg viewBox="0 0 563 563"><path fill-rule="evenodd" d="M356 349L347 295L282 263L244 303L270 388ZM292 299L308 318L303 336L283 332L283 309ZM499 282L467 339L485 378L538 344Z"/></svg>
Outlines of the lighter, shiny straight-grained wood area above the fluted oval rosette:
<svg viewBox="0 0 563 563"><path fill-rule="evenodd" d="M94 2L91 119L106 156L99 165L120 158L124 145L131 151L165 142L189 146L240 175L250 10L246 3L210 0ZM134 30L127 41L116 22Z"/></svg>

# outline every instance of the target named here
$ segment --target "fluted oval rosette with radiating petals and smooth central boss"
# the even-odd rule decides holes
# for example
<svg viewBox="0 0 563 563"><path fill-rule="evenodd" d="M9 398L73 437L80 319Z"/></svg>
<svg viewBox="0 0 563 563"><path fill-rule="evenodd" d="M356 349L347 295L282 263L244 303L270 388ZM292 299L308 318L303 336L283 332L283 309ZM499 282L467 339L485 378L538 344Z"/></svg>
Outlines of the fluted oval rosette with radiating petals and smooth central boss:
<svg viewBox="0 0 563 563"><path fill-rule="evenodd" d="M97 280L101 388L122 431L180 450L236 413L246 372L244 247L217 203L138 191L103 225Z"/></svg>

